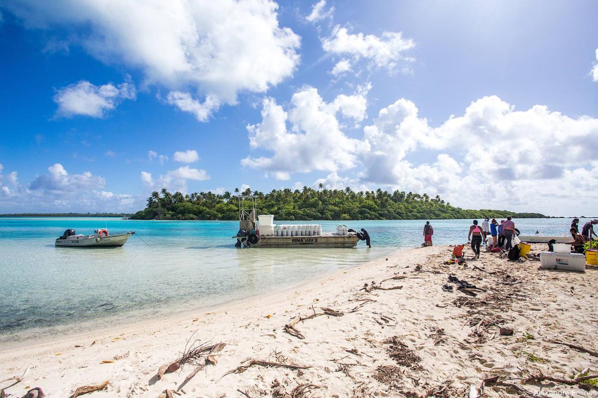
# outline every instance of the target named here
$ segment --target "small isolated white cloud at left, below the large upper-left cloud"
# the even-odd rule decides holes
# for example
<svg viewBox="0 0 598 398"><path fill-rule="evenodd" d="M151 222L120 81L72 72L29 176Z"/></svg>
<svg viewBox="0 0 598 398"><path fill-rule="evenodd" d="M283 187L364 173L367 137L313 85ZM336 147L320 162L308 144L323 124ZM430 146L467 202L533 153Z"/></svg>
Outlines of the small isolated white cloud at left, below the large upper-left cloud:
<svg viewBox="0 0 598 398"><path fill-rule="evenodd" d="M120 101L134 100L136 95L135 86L129 83L96 86L82 80L57 90L54 95L54 102L58 105L56 115L66 118L75 115L102 118L107 111L115 109Z"/></svg>

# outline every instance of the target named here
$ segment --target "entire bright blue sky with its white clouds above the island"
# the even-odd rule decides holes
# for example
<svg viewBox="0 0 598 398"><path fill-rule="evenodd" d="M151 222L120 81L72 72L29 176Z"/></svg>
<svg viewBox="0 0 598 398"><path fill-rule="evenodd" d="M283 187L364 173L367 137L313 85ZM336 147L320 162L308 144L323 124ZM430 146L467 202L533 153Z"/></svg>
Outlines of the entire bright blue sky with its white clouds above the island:
<svg viewBox="0 0 598 398"><path fill-rule="evenodd" d="M0 212L324 183L598 213L595 2L161 7L1 3Z"/></svg>

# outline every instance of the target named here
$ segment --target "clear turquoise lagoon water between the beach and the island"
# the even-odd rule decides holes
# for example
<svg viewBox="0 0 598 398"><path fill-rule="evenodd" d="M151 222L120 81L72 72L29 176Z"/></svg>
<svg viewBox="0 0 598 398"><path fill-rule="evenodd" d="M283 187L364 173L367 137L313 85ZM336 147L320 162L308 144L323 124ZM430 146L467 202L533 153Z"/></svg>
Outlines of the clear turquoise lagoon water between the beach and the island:
<svg viewBox="0 0 598 398"><path fill-rule="evenodd" d="M432 220L434 242L464 243L471 220ZM285 224L291 224L286 222ZM307 222L305 222L307 223ZM337 221L309 221L331 232ZM515 220L560 235L569 219ZM301 224L297 222L297 224ZM424 221L343 221L372 248L237 249L237 221L0 218L0 343L167 316L297 285L422 243ZM122 248L56 248L65 229L135 230ZM83 326L82 326L83 325Z"/></svg>

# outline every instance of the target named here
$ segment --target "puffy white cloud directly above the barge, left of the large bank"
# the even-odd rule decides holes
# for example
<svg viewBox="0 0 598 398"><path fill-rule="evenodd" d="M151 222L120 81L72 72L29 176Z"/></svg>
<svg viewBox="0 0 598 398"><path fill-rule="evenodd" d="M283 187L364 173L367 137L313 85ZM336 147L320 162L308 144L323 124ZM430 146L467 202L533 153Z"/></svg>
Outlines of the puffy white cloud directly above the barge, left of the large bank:
<svg viewBox="0 0 598 398"><path fill-rule="evenodd" d="M289 113L273 98L264 98L261 123L247 127L249 145L252 149L271 151L273 156L248 156L242 165L273 172L282 180L288 180L289 173L297 170L338 171L353 167L359 141L341 131L335 115L340 113L353 121L365 118L365 92L339 95L327 103L318 90L306 87L292 96Z"/></svg>

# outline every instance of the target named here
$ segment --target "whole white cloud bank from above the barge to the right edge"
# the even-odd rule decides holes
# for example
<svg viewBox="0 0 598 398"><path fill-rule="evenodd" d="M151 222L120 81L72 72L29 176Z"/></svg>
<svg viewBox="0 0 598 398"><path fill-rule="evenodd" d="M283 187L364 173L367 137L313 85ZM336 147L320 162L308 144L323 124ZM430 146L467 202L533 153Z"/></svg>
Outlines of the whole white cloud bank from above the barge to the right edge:
<svg viewBox="0 0 598 398"><path fill-rule="evenodd" d="M248 126L249 143L272 155L248 156L242 164L282 180L326 171L314 186L382 186L469 208L593 211L577 198L598 195L597 118L571 118L542 105L516 110L492 95L432 127L416 104L400 98L356 139L343 131L336 101L326 103L309 87L293 95L286 111L266 98L261 123Z"/></svg>

